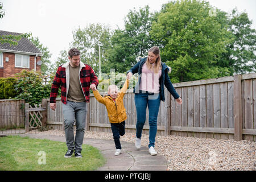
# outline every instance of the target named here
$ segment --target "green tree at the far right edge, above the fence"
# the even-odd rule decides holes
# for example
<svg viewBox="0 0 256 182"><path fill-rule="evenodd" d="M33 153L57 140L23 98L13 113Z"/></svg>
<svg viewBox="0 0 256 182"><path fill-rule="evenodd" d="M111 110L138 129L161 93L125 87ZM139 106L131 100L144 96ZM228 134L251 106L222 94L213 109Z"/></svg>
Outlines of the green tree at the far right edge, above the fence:
<svg viewBox="0 0 256 182"><path fill-rule="evenodd" d="M228 24L234 39L222 56L222 66L229 67L230 75L255 72L256 31L250 28L251 20L247 13L238 13L237 9L233 9Z"/></svg>

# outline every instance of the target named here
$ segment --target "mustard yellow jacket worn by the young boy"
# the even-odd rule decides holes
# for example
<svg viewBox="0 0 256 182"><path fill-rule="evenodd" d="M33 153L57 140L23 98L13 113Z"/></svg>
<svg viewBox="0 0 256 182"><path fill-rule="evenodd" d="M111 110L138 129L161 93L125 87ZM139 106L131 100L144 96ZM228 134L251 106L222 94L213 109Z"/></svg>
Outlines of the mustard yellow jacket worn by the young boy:
<svg viewBox="0 0 256 182"><path fill-rule="evenodd" d="M128 87L129 80L126 79L115 101L110 96L102 97L98 90L93 91L96 100L106 106L110 123L121 123L127 119L126 109L123 105L123 96L125 96Z"/></svg>

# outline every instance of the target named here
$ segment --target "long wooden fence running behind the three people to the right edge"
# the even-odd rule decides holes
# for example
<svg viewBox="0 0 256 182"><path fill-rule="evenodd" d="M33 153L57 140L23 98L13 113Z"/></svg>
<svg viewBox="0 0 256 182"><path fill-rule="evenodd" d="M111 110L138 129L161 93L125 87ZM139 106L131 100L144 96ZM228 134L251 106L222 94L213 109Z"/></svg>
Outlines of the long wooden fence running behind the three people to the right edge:
<svg viewBox="0 0 256 182"><path fill-rule="evenodd" d="M254 140L256 135L256 73L174 84L183 104L166 90L158 114L158 135L216 139ZM135 133L137 114L134 94L123 98L127 113L126 132ZM60 98L56 111L49 109L47 125L64 130ZM148 110L147 110L148 113ZM86 130L111 132L108 113L90 94ZM143 134L148 134L148 114Z"/></svg>

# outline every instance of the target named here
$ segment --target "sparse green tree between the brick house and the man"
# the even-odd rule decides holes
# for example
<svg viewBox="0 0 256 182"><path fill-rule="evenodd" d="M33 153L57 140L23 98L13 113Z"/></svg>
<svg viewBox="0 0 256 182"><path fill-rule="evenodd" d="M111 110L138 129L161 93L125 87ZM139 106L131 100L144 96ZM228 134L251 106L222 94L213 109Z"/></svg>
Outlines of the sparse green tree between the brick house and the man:
<svg viewBox="0 0 256 182"><path fill-rule="evenodd" d="M43 56L41 57L42 65L41 65L41 72L43 75L47 75L51 73L51 53L49 52L48 47L44 47L42 43L39 42L39 38L31 37L30 41L34 43L34 45L43 53Z"/></svg>

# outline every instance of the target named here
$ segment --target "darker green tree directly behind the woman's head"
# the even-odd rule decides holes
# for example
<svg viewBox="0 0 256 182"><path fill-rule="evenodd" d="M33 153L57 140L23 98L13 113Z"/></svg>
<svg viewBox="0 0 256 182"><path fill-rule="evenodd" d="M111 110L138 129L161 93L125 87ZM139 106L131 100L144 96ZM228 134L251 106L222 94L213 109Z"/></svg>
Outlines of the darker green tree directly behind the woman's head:
<svg viewBox="0 0 256 182"><path fill-rule="evenodd" d="M125 29L114 31L112 48L108 50L108 69L126 72L137 63L137 56L145 56L154 45L149 32L155 14L150 13L149 9L149 6L145 6L138 11L130 10L125 17Z"/></svg>

